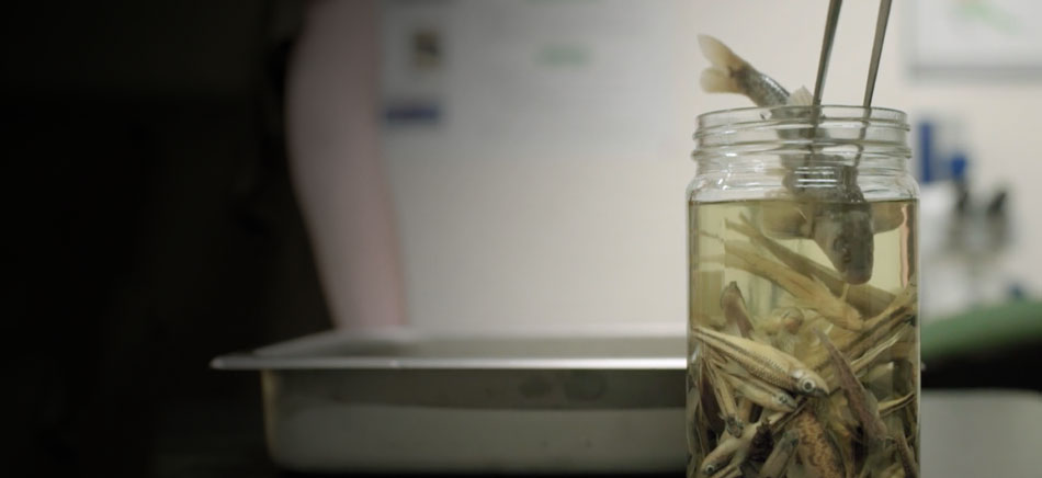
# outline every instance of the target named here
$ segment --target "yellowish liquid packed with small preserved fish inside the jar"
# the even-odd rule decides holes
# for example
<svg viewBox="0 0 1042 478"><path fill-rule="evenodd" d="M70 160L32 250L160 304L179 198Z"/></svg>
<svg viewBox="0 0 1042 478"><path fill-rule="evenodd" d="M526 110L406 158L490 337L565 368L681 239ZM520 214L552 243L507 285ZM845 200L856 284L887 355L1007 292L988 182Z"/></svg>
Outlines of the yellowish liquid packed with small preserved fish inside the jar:
<svg viewBox="0 0 1042 478"><path fill-rule="evenodd" d="M917 204L871 203L858 285L807 207L689 203L689 476L918 473Z"/></svg>

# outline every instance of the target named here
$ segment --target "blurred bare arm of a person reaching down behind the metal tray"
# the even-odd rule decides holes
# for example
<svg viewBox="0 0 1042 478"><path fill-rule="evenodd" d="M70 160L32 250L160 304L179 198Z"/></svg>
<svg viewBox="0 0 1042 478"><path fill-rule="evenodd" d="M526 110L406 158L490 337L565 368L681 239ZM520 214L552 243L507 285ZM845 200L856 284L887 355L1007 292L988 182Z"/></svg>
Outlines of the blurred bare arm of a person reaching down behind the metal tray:
<svg viewBox="0 0 1042 478"><path fill-rule="evenodd" d="M405 322L380 161L378 9L313 1L287 83L290 163L337 327Z"/></svg>

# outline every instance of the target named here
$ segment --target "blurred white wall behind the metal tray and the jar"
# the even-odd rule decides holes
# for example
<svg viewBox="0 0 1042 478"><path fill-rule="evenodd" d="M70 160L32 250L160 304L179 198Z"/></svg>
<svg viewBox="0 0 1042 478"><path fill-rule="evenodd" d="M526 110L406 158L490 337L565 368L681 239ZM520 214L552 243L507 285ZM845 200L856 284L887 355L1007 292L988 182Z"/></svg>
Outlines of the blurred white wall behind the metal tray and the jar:
<svg viewBox="0 0 1042 478"><path fill-rule="evenodd" d="M827 2L479 3L390 4L385 16L386 32L448 32L448 67L434 77L409 77L385 53L388 95L424 92L445 106L434 127L384 134L410 320L683 321L693 117L747 105L699 90L706 61L695 35L720 37L790 88L813 88ZM1042 162L1032 158L1042 82L913 81L902 52L908 12L897 3L875 104L962 117L976 179L1012 186L1021 243L1037 242L1042 223L1029 212L1042 201ZM827 103L860 103L875 9L846 2ZM528 62L530 50L553 44L579 45L585 62ZM1042 284L1038 254L1016 254L1032 291Z"/></svg>

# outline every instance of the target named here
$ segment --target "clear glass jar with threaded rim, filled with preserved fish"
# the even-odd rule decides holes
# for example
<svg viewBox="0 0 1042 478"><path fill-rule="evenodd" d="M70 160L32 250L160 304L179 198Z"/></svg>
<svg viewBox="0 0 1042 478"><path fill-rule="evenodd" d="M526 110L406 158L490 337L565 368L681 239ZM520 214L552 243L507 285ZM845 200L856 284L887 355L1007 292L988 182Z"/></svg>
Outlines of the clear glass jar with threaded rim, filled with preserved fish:
<svg viewBox="0 0 1042 478"><path fill-rule="evenodd" d="M918 476L907 133L886 109L699 116L688 476Z"/></svg>

